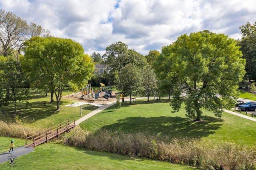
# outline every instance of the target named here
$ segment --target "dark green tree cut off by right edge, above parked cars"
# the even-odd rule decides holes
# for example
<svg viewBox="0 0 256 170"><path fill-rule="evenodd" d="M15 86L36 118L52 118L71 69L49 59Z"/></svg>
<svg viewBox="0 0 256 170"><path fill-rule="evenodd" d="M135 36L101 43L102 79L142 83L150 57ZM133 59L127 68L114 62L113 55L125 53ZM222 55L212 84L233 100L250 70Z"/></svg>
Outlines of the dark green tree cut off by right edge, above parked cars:
<svg viewBox="0 0 256 170"><path fill-rule="evenodd" d="M245 77L249 81L256 80L256 22L249 22L240 27L242 39L239 43L243 58L246 59Z"/></svg>

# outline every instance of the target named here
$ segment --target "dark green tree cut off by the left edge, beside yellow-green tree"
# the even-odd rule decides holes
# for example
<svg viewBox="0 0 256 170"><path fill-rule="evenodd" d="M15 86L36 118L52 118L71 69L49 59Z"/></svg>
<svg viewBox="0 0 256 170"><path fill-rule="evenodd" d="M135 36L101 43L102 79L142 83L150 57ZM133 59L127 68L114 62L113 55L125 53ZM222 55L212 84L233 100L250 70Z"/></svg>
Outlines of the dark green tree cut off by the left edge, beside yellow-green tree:
<svg viewBox="0 0 256 170"><path fill-rule="evenodd" d="M27 100L28 81L20 64L13 57L0 57L0 84L0 106L4 103L14 103L16 113L16 102ZM4 93L6 87L10 93Z"/></svg>

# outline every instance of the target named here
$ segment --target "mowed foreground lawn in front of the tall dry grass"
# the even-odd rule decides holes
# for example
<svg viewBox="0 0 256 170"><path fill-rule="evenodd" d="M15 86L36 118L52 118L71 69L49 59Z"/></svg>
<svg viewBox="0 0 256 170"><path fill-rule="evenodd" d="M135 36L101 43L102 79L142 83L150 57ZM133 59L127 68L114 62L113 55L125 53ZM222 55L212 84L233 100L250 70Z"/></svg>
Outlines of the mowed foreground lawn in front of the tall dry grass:
<svg viewBox="0 0 256 170"><path fill-rule="evenodd" d="M0 137L1 142L9 141L9 138ZM15 140L16 141L16 140ZM0 146L0 150L2 147ZM6 150L5 150L6 151ZM72 169L72 170L195 170L189 166L170 164L154 160L130 158L105 152L94 152L61 144L43 144L37 146L34 152L30 152L16 159L16 169ZM8 162L0 164L0 169L10 169Z"/></svg>

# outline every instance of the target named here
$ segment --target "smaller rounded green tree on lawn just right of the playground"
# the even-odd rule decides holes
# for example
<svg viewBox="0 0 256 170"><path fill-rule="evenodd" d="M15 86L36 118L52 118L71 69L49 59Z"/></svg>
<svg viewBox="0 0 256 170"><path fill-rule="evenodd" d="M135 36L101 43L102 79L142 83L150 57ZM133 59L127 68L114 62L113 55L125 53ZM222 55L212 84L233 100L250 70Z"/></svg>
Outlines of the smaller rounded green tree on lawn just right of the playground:
<svg viewBox="0 0 256 170"><path fill-rule="evenodd" d="M132 95L137 96L144 91L142 82L142 70L132 63L125 65L118 72L117 89L124 96L130 97L130 104Z"/></svg>

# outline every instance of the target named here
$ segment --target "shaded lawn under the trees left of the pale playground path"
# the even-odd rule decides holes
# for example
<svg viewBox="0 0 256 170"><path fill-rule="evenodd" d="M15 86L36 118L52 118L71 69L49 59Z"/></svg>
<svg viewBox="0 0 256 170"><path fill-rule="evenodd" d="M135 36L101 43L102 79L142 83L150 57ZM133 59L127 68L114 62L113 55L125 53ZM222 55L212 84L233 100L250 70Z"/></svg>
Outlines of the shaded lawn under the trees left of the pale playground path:
<svg viewBox="0 0 256 170"><path fill-rule="evenodd" d="M70 92L71 93L71 92ZM64 91L64 95L67 95L67 89ZM72 103L71 100L61 99L60 111L56 111L56 102L50 103L50 97L41 96L36 91L30 92L31 99L29 100L28 107L24 102L17 103L17 111L19 119L26 119L32 126L40 126L41 128L49 128L60 122L80 119L80 107L66 107ZM48 94L49 95L49 94ZM55 100L56 101L56 100ZM45 103L45 105L44 105ZM91 111L98 107L93 105L82 105L82 116L87 115ZM7 121L13 120L13 117L6 117L14 111L14 106L9 105L7 107L0 107L0 119ZM2 113L2 117L1 117ZM4 117L5 116L5 117Z"/></svg>

